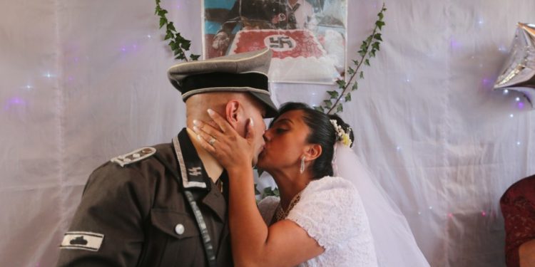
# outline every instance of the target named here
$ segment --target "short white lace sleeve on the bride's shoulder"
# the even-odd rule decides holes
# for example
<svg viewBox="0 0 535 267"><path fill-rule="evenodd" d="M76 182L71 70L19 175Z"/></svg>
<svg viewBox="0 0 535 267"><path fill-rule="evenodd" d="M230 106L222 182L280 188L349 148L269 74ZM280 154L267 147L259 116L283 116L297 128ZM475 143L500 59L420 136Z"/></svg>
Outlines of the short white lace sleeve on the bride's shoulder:
<svg viewBox="0 0 535 267"><path fill-rule="evenodd" d="M286 219L305 229L326 251L370 231L357 189L340 177L310 182Z"/></svg>

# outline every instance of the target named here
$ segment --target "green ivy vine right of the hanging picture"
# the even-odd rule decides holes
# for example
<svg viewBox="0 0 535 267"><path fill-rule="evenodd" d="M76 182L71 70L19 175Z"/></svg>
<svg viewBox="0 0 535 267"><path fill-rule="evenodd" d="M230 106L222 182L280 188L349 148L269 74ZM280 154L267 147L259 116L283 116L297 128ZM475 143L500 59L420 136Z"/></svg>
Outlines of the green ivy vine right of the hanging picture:
<svg viewBox="0 0 535 267"><path fill-rule="evenodd" d="M365 41L362 41L362 44L360 45L360 50L358 51L360 58L352 61L352 66L354 68L347 68L347 75L350 76L350 79L347 80L347 82L345 79L337 80L336 83L338 88L336 88L336 90L327 91L329 98L323 100L322 105L315 107L316 110L320 110L327 114L337 114L344 110L342 103L351 101L351 92L359 88L357 80L364 79L364 71L360 69L362 64L364 63L364 65L370 66L370 58L374 58L377 51L379 51L382 42L380 31L382 30L382 26L384 26L384 11L387 11L387 9L383 3L381 11L377 14L379 19L375 21L372 34L370 34Z"/></svg>

